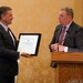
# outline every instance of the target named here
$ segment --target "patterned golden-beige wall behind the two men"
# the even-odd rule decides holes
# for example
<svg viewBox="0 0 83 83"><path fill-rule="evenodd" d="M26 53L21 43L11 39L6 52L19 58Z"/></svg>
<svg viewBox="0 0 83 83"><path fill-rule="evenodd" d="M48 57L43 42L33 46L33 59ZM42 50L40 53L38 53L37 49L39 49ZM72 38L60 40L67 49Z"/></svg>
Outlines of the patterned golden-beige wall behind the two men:
<svg viewBox="0 0 83 83"><path fill-rule="evenodd" d="M49 43L59 23L59 11L66 6L73 8L75 22L83 25L83 0L0 0L0 6L13 9L14 20L10 27L17 38L21 32L42 34L38 56L20 59L17 83L55 83Z"/></svg>

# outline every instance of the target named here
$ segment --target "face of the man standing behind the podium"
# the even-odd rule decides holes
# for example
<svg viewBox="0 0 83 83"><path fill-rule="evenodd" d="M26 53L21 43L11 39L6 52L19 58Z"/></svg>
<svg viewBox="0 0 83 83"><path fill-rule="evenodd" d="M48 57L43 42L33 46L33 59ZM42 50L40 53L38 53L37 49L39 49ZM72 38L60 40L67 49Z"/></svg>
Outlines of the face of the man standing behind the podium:
<svg viewBox="0 0 83 83"><path fill-rule="evenodd" d="M71 15L66 14L66 11L60 11L59 21L62 25L66 25L70 21Z"/></svg>

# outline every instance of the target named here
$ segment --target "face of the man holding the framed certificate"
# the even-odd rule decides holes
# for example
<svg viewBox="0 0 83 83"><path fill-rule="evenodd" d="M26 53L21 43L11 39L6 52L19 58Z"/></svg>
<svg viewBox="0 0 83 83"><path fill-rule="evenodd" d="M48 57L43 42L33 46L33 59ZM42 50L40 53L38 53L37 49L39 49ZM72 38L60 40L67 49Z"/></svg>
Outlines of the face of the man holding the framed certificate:
<svg viewBox="0 0 83 83"><path fill-rule="evenodd" d="M4 22L7 25L8 25L8 24L11 24L12 19L13 19L13 17L12 17L12 10L9 10L9 11L7 11L7 13L2 14L2 20L3 20L3 22Z"/></svg>

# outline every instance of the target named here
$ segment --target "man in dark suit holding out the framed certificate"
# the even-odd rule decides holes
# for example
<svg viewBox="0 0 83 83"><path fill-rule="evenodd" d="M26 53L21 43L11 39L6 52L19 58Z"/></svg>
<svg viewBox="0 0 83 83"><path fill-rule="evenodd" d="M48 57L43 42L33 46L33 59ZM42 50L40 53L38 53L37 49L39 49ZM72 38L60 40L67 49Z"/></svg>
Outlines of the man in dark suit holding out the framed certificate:
<svg viewBox="0 0 83 83"><path fill-rule="evenodd" d="M0 83L14 83L14 76L18 74L18 59L30 56L29 53L17 52L17 39L8 28L12 19L12 9L0 7Z"/></svg>

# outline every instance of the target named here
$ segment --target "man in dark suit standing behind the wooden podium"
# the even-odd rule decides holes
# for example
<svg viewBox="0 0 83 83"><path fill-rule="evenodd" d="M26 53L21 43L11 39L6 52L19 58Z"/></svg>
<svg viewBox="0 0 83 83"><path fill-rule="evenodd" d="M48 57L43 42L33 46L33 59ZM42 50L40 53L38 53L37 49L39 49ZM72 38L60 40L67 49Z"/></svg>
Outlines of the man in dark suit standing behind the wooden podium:
<svg viewBox="0 0 83 83"><path fill-rule="evenodd" d="M83 28L73 21L73 15L71 8L60 10L60 24L55 28L49 45L51 52L83 52ZM51 65L56 66L54 62Z"/></svg>

